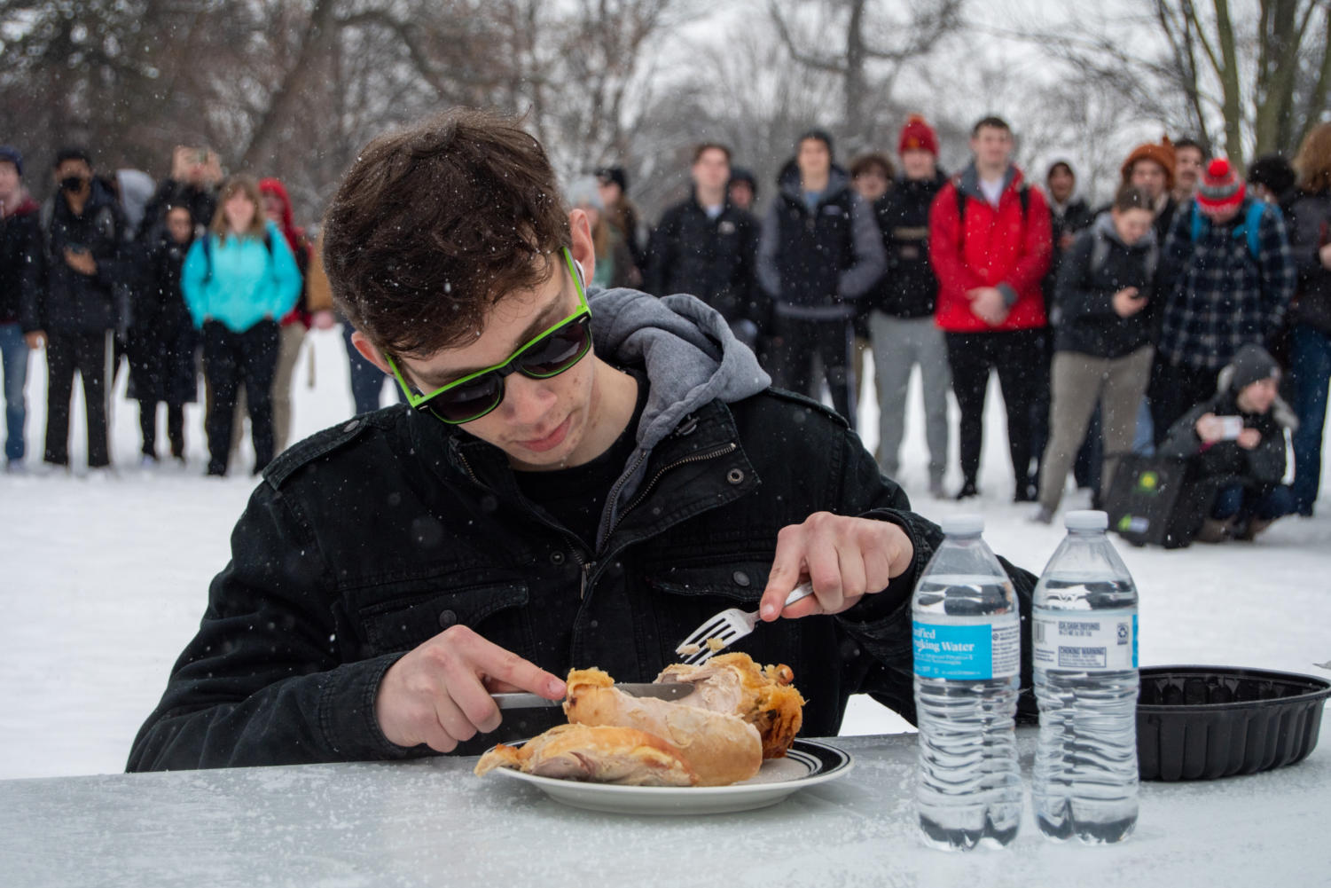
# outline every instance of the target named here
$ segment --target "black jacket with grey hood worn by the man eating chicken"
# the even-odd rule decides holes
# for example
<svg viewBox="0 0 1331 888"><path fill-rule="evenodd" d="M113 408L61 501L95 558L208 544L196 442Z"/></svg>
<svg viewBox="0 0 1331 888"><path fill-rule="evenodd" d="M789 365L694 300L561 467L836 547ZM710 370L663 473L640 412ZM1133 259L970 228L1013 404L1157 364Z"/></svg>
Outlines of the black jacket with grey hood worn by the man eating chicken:
<svg viewBox="0 0 1331 888"><path fill-rule="evenodd" d="M836 734L857 692L913 719L910 591L940 530L844 421L764 389L756 358L699 300L610 290L591 309L596 351L650 379L595 549L462 427L387 407L314 435L265 469L129 770L431 755L389 743L374 700L389 667L450 626L555 674L595 664L651 680L704 618L757 606L777 533L820 509L898 525L913 563L840 615L763 626L736 650L791 666L804 734ZM1009 572L1029 616L1034 576ZM579 606L551 607L568 596ZM1029 670L1028 656L1024 687ZM562 720L558 708L510 714L455 752Z"/></svg>

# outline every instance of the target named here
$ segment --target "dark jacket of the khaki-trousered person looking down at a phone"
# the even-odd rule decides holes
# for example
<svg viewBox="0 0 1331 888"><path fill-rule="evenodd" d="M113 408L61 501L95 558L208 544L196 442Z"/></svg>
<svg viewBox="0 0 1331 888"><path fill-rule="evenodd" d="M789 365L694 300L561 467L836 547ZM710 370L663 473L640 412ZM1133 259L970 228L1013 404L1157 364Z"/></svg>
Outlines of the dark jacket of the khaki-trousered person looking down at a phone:
<svg viewBox="0 0 1331 888"><path fill-rule="evenodd" d="M1135 286L1149 306L1158 260L1154 229L1127 246L1113 217L1106 213L1097 218L1073 242L1058 273L1054 351L1121 358L1150 343L1150 309L1121 318L1114 312L1114 293Z"/></svg>

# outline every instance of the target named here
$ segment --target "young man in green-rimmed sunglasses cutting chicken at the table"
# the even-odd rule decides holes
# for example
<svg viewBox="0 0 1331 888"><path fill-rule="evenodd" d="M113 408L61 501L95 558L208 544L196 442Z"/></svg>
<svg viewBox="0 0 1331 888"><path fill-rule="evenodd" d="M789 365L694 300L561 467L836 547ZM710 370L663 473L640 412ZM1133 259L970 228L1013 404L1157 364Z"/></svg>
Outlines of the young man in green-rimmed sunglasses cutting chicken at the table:
<svg viewBox="0 0 1331 888"><path fill-rule="evenodd" d="M129 770L475 754L562 720L491 692L651 680L735 606L765 620L737 650L795 671L804 734L836 734L856 692L913 719L938 529L715 310L588 294L587 218L518 122L375 140L323 230L355 345L410 405L269 465Z"/></svg>

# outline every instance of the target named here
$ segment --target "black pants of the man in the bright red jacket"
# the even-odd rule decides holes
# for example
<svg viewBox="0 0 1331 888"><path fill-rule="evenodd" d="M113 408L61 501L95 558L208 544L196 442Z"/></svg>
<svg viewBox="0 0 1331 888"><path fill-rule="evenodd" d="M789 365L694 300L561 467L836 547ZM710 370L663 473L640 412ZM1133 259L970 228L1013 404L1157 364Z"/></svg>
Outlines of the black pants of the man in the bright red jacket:
<svg viewBox="0 0 1331 888"><path fill-rule="evenodd" d="M961 474L974 485L980 474L980 450L984 445L985 390L989 369L998 371L1004 407L1008 410L1008 450L1012 454L1017 497L1029 499L1038 486L1038 466L1032 474L1030 445L1032 402L1036 398L1038 370L1030 367L1040 350L1040 330L1001 330L996 333L949 333L948 363L952 365L952 390L961 409Z"/></svg>

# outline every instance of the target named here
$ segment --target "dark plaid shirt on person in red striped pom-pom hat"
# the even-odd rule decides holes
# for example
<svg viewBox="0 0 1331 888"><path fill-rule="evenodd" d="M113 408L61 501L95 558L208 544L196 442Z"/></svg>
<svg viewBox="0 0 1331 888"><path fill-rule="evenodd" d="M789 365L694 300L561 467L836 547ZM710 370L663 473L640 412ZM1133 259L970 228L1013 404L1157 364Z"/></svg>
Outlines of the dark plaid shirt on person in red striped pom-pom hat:
<svg viewBox="0 0 1331 888"><path fill-rule="evenodd" d="M1278 209L1262 213L1256 258L1247 236L1235 233L1251 201L1243 201L1233 221L1203 225L1195 244L1194 202L1174 214L1157 281L1165 294L1159 353L1170 363L1219 370L1239 346L1264 347L1280 329L1298 269Z"/></svg>

